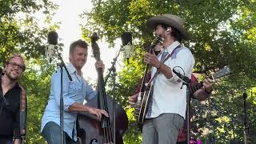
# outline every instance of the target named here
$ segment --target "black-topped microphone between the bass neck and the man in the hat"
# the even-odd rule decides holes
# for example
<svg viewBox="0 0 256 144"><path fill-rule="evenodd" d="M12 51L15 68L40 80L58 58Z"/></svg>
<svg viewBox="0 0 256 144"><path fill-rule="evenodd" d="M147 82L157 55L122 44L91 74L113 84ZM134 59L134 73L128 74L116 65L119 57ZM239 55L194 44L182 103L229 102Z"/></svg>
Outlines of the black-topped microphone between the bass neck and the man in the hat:
<svg viewBox="0 0 256 144"><path fill-rule="evenodd" d="M130 50L132 49L132 35L130 32L123 32L121 35L123 55L129 64Z"/></svg>

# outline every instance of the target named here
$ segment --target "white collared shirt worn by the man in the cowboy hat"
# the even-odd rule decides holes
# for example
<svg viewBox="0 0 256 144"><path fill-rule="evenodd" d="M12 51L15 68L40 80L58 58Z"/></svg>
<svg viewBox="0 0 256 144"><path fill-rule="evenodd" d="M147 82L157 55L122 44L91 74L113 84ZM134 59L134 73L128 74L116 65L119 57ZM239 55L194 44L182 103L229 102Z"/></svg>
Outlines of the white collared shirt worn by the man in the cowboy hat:
<svg viewBox="0 0 256 144"><path fill-rule="evenodd" d="M168 46L165 51L169 54L180 45L179 42L174 42ZM158 60L160 60L162 54L158 55ZM171 58L165 62L166 66L169 66L171 71L175 66L180 66L177 69L188 78L191 78L192 69L194 66L194 56L191 51L182 46L174 51ZM156 72L156 68L153 67L151 70L151 78ZM166 78L162 73L154 79L154 92L153 92L153 105L150 118L158 117L163 113L174 113L179 114L183 118L186 115L186 86L182 86L182 82L179 80L178 76L172 73L172 78ZM182 87L182 89L181 89Z"/></svg>

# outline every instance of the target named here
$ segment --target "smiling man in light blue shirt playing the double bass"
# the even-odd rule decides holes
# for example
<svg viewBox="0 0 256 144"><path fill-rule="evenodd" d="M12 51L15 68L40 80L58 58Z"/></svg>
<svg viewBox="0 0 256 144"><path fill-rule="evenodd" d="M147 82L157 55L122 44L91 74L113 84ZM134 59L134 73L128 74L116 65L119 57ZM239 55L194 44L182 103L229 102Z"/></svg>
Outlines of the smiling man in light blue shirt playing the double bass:
<svg viewBox="0 0 256 144"><path fill-rule="evenodd" d="M102 114L108 117L105 110L99 110L90 106L82 105L84 99L89 101L97 94L82 78L82 66L87 59L87 43L78 40L70 45L70 64L67 70L72 81L68 78L66 71L63 71L63 101L64 101L64 143L78 143L76 135L76 118L78 111L88 111L98 119ZM96 68L103 68L102 62L96 62ZM50 97L46 110L42 116L42 136L49 144L61 142L60 127L60 94L61 94L61 73L57 70L51 77Z"/></svg>

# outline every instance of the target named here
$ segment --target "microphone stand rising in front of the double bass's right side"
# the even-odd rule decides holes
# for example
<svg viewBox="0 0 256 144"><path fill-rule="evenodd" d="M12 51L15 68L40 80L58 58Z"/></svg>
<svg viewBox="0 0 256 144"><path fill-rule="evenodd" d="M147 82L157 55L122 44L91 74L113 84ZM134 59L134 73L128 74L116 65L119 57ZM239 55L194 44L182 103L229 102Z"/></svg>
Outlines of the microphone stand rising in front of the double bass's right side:
<svg viewBox="0 0 256 144"><path fill-rule="evenodd" d="M117 54L117 56L115 57L115 58L113 58L113 62L111 62L111 64L112 64L112 66L110 67L110 69L109 69L109 73L108 74L106 74L106 78L105 78L105 83L104 83L104 86L106 86L106 82L107 82L107 80L108 80L108 78L110 78L110 74L111 74L111 72L113 72L113 134L114 134L114 138L113 138L113 141L114 141L114 144L115 144L115 107L116 107L116 104L115 104L115 80L116 80L116 66L115 66L115 64L116 64L116 62L117 62L117 59L118 59L118 56L120 55L120 52L121 52L121 50L122 50L122 46L121 46L121 48L118 50L118 54Z"/></svg>

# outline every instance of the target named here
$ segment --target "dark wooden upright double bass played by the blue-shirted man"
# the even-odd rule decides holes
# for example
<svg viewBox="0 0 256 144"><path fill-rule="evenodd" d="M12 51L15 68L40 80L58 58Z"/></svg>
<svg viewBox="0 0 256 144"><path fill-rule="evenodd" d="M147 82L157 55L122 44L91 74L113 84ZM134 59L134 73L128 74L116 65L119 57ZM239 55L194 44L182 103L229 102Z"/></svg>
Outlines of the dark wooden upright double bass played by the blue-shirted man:
<svg viewBox="0 0 256 144"><path fill-rule="evenodd" d="M100 51L97 44L98 36L93 34L91 37L91 46L94 58L100 61ZM78 137L82 139L82 144L122 144L122 135L128 128L128 118L126 111L106 95L105 82L102 68L98 72L98 94L95 98L86 103L88 106L97 107L106 110L109 118L102 115L102 121L99 121L94 115L89 113L78 114ZM115 112L113 112L115 109ZM115 114L114 114L115 113ZM115 118L114 118L115 115Z"/></svg>

